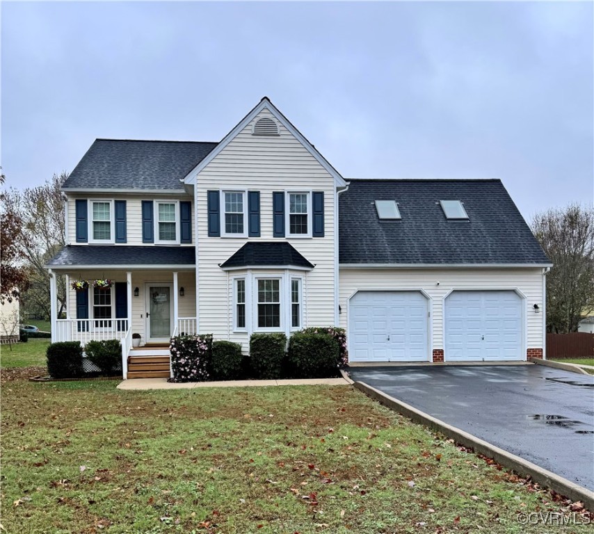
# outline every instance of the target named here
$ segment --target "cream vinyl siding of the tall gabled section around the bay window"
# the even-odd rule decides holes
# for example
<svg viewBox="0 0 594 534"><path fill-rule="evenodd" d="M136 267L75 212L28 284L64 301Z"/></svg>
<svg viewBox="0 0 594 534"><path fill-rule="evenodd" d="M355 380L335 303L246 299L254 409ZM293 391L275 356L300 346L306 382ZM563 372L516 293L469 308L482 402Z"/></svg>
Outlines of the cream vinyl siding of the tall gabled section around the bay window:
<svg viewBox="0 0 594 534"><path fill-rule="evenodd" d="M266 115L269 115L269 112L263 111L257 118ZM274 137L252 136L252 124L248 124L200 172L196 181L200 232L197 254L200 331L213 332L219 339L242 343L246 352L250 332L233 331L233 284L228 280L228 274L218 267L218 264L231 257L246 241L288 241L300 254L315 264L315 268L305 275L303 282L303 327L335 323L335 181L282 125L279 125L279 133L279 136ZM246 239L208 236L207 191L213 188L213 184L221 191L221 197L223 191L243 191L246 188L259 191L260 237ZM323 191L324 236L311 239L274 238L273 191ZM289 206L285 200L285 213L288 210ZM288 229L286 232L288 235ZM284 270L280 270L279 274L283 275ZM252 275L259 273L254 270ZM224 294L227 295L225 305L221 302L221 295ZM287 319L289 320L290 318Z"/></svg>

